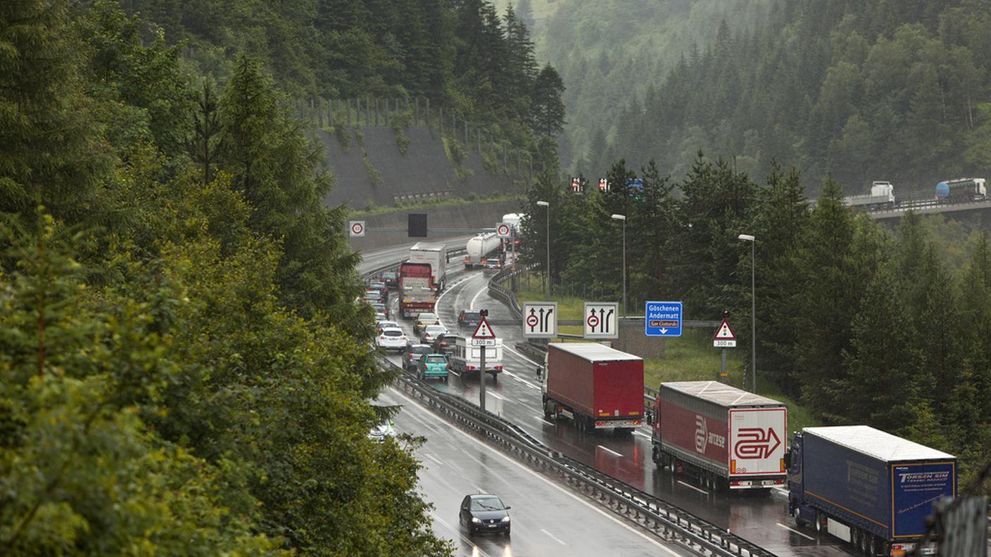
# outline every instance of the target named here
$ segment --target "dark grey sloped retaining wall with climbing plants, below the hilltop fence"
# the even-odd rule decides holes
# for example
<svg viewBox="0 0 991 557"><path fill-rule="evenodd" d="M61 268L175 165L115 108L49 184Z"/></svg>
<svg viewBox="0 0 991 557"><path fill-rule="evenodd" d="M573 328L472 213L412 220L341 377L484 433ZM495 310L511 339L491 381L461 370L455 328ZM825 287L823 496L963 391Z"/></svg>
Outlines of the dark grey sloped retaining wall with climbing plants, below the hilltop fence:
<svg viewBox="0 0 991 557"><path fill-rule="evenodd" d="M521 186L514 184L509 176L486 173L474 146L468 150L468 161L464 165L472 170L472 175L459 179L454 165L444 153L439 134L424 126L405 129L409 138L405 154L399 152L391 128L369 127L361 131L372 167L382 174L380 184L373 181L365 167L354 130L348 129L350 144L347 151L333 134L322 130L316 132L316 139L324 148L327 167L337 177L333 190L325 199L328 205L346 203L356 209L365 207L369 201L391 205L396 196L410 193L450 191L454 196L467 197L471 193L522 192ZM524 171L527 176L528 171L527 167Z"/></svg>

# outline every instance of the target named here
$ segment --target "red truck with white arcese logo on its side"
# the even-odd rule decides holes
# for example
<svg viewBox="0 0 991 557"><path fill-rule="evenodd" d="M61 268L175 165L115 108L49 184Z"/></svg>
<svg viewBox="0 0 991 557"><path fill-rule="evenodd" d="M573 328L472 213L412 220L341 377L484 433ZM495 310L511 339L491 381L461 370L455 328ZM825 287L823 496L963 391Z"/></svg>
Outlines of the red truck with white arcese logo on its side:
<svg viewBox="0 0 991 557"><path fill-rule="evenodd" d="M654 400L652 456L714 489L787 482L785 405L715 381L662 383Z"/></svg>

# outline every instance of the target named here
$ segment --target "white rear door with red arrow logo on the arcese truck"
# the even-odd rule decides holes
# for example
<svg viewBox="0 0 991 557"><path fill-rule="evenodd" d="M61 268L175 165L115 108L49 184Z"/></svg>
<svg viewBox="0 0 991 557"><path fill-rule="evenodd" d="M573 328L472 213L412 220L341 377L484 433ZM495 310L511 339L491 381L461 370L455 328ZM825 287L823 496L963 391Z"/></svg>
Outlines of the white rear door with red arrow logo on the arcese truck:
<svg viewBox="0 0 991 557"><path fill-rule="evenodd" d="M784 406L730 408L730 475L785 474L786 414Z"/></svg>

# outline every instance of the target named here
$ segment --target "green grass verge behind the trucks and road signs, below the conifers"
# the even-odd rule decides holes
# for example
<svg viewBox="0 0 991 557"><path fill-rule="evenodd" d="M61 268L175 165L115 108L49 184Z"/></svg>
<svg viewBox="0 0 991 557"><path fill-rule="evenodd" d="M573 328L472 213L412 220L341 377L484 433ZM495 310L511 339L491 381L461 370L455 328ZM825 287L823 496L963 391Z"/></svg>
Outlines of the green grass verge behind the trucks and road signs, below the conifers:
<svg viewBox="0 0 991 557"><path fill-rule="evenodd" d="M520 305L524 301L543 301L547 293L541 289L539 274L530 277L529 286L526 278L520 278L516 299ZM583 303L580 297L552 296L551 301L558 302L558 319L581 319ZM581 326L562 326L559 331L566 334L582 334ZM643 363L643 384L657 388L664 382L675 381L716 381L719 379L721 355L713 348L713 334L709 329L686 329L679 338L664 340L664 358L647 358ZM560 341L555 341L560 342ZM743 350L730 349L726 355L726 383L733 387L743 388ZM758 358L760 354L757 355ZM751 381L746 378L747 383ZM781 400L788 406L788 429L791 431L823 425L823 422L813 416L808 408L799 404L782 392L775 384L762 381L757 374L757 393L768 398Z"/></svg>

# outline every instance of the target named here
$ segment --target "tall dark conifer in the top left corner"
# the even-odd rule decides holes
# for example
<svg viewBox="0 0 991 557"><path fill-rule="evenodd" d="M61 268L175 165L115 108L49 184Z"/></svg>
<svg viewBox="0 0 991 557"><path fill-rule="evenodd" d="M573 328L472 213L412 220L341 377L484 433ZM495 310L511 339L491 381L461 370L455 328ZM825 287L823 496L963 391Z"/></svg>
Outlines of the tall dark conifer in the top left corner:
<svg viewBox="0 0 991 557"><path fill-rule="evenodd" d="M44 204L80 221L104 210L111 159L83 94L69 2L0 4L0 211Z"/></svg>

